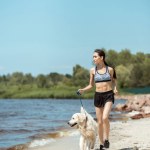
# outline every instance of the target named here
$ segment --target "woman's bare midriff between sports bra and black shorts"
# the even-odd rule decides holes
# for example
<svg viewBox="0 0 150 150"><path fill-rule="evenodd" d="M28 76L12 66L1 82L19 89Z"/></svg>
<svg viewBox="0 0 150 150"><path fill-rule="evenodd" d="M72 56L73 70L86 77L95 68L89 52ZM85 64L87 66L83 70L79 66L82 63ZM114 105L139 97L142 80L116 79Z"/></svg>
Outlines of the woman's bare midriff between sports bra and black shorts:
<svg viewBox="0 0 150 150"><path fill-rule="evenodd" d="M112 90L112 82L99 82L95 83L96 92L107 92Z"/></svg>

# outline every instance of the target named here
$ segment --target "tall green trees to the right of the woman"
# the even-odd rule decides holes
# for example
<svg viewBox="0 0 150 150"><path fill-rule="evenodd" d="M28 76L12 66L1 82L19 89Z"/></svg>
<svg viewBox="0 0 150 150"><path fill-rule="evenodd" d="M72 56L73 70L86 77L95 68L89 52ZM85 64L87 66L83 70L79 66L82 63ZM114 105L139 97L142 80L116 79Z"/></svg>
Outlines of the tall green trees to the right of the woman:
<svg viewBox="0 0 150 150"><path fill-rule="evenodd" d="M120 88L150 86L150 54L131 54L128 49L106 53L108 64L116 68Z"/></svg>

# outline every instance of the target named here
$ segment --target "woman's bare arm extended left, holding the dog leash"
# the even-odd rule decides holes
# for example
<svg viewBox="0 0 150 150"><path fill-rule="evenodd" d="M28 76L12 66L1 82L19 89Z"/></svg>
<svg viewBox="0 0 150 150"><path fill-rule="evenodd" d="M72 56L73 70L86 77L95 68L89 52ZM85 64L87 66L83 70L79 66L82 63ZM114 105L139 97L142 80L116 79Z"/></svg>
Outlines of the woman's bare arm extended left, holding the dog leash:
<svg viewBox="0 0 150 150"><path fill-rule="evenodd" d="M82 94L83 92L90 90L93 86L94 86L94 68L92 68L92 69L90 70L90 81L89 81L89 85L86 86L86 87L84 87L84 88L82 88L82 89L79 89L78 91L79 91L80 94Z"/></svg>

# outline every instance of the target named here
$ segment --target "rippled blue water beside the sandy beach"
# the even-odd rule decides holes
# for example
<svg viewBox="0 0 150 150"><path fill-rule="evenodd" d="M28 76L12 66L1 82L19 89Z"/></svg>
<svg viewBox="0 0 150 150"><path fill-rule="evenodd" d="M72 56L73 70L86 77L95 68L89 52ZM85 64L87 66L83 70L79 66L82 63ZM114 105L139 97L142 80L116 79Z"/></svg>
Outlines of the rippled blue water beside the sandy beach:
<svg viewBox="0 0 150 150"><path fill-rule="evenodd" d="M124 103L124 100L116 100ZM87 112L95 118L93 100L83 100ZM67 122L71 116L80 112L79 100L0 100L0 148L8 148L18 144L50 142L59 137L60 131L68 130ZM111 118L117 118L111 112ZM47 138L47 140L46 140ZM52 141L52 140L51 140Z"/></svg>

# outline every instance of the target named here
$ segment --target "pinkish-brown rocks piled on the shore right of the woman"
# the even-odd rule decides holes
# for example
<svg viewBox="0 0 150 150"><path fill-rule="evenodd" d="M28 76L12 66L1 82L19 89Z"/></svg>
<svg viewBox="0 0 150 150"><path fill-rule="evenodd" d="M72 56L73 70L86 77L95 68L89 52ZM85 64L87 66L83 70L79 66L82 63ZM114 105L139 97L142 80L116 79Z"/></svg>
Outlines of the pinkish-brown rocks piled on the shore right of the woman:
<svg viewBox="0 0 150 150"><path fill-rule="evenodd" d="M150 94L117 96L116 99L125 99L125 104L117 104L115 111L128 112L132 119L150 117Z"/></svg>

